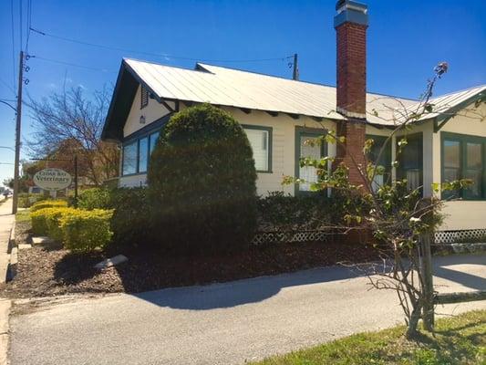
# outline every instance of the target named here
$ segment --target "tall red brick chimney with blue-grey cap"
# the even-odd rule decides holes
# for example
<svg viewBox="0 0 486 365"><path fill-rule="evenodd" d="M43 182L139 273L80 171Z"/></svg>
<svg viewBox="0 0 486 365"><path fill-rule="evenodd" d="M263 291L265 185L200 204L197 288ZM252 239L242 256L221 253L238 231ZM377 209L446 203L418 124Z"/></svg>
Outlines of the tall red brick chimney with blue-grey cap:
<svg viewBox="0 0 486 365"><path fill-rule="evenodd" d="M354 162L363 168L366 160L367 110L367 5L339 0L334 18L336 28L336 110L347 120L337 125L337 135L346 137L337 147L337 162L349 167L349 181L363 183Z"/></svg>

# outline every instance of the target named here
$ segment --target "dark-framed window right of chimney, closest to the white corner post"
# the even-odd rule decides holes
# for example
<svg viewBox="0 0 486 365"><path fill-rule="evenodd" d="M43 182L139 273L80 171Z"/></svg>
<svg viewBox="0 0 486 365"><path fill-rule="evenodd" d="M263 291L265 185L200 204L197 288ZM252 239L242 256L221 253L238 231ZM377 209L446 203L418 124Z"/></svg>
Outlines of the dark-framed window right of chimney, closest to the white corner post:
<svg viewBox="0 0 486 365"><path fill-rule="evenodd" d="M397 146L397 177L399 180L407 179L408 189L417 189L423 184L422 133L397 137L397 142L402 139L407 140L407 145L403 146L399 153Z"/></svg>

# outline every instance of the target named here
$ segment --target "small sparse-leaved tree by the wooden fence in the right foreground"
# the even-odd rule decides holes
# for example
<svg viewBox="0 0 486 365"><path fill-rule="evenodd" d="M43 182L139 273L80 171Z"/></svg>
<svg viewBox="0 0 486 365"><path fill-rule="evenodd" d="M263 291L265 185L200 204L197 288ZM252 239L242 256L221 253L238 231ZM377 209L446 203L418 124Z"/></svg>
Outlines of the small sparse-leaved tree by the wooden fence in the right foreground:
<svg viewBox="0 0 486 365"><path fill-rule="evenodd" d="M313 190L326 191L329 188L333 190L335 202L333 211L338 212L340 217L328 226L329 229L344 234L353 230L372 233L374 246L382 258L382 263L366 266L369 282L375 288L391 289L398 294L398 301L408 324L408 337L416 335L420 318L425 319L426 329L433 330L433 323L428 322L427 318L429 312L434 310L434 303L433 297L429 296L424 289L428 283L422 270L421 261L424 252L420 240L430 237L439 227L442 221L440 214L442 201L435 195L423 197L423 186L410 188L405 179L392 182L388 177L384 183L377 184L376 177L384 175L386 171L386 168L378 165L377 162L381 160L381 156L397 136L400 136L397 157L402 153L408 143L408 131L412 129L414 123L426 119L428 114L446 112L436 110L430 102L435 84L445 72L447 72L446 63L441 63L435 68L434 77L429 80L417 104L412 107L402 104L401 108L393 108L393 118L387 119L388 124L393 126L393 130L377 153L375 161L367 160L367 154L374 144L374 141L368 140L363 150L365 165L358 163L357 161L361 159L355 158L356 156L350 156L352 166L346 166L330 157L317 160L304 158L300 162L301 166L313 166L317 170L318 181L311 183ZM397 102L400 104L399 100ZM388 107L384 105L384 108ZM484 116L475 110L461 112L472 118L484 119ZM387 118L382 117L377 110L373 110L373 114L377 118L384 120ZM333 131L328 131L317 141L306 141L309 144L324 142L336 143L339 148L346 149L345 139L337 136ZM329 169L329 164L333 164L332 169ZM393 167L398 167L398 164L398 158L397 161L392 162ZM349 183L349 167L359 172L362 183ZM295 177L285 177L284 183L306 182ZM470 183L469 180L463 179L450 183L435 183L433 188L435 193L439 193L439 190L456 191L469 186Z"/></svg>

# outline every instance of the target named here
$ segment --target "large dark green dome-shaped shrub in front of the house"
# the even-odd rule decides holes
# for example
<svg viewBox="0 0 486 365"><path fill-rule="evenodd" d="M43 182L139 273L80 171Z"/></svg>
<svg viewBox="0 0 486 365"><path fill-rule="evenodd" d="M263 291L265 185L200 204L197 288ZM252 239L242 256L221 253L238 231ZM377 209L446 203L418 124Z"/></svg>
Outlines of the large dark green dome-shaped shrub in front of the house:
<svg viewBox="0 0 486 365"><path fill-rule="evenodd" d="M231 252L256 226L256 172L241 125L202 104L175 114L151 154L151 239L171 251Z"/></svg>

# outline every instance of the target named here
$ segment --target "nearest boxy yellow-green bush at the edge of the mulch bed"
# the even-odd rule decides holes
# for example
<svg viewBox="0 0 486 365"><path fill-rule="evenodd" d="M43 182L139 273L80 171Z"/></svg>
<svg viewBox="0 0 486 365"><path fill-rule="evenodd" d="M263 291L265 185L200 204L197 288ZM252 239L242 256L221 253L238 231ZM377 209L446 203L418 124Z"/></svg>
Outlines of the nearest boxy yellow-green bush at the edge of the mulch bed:
<svg viewBox="0 0 486 365"><path fill-rule="evenodd" d="M105 248L113 233L110 230L111 210L74 209L59 219L64 246L73 252L89 252Z"/></svg>

